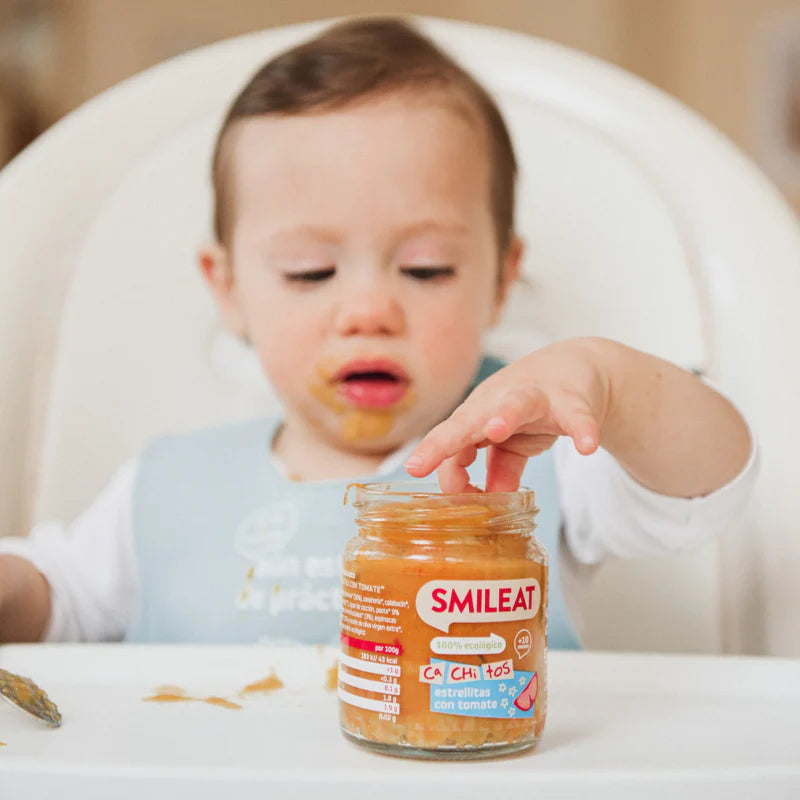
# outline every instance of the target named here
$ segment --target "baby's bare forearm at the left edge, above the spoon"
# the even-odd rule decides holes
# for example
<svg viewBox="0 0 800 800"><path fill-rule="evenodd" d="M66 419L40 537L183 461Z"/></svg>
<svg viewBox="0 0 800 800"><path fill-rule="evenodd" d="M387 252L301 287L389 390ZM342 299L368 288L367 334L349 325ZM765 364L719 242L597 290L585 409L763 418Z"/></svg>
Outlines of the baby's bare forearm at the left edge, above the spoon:
<svg viewBox="0 0 800 800"><path fill-rule="evenodd" d="M28 559L0 554L0 644L38 642L50 619L50 585Z"/></svg>

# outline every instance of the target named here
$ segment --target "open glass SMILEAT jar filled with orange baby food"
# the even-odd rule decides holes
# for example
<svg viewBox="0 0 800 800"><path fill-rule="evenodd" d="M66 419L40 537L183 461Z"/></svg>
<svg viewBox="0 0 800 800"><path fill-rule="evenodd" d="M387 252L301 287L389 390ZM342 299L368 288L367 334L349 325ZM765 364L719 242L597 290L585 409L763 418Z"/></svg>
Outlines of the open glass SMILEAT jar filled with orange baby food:
<svg viewBox="0 0 800 800"><path fill-rule="evenodd" d="M534 493L375 483L351 486L348 499L358 532L343 560L345 737L431 759L535 745L547 707L548 583Z"/></svg>

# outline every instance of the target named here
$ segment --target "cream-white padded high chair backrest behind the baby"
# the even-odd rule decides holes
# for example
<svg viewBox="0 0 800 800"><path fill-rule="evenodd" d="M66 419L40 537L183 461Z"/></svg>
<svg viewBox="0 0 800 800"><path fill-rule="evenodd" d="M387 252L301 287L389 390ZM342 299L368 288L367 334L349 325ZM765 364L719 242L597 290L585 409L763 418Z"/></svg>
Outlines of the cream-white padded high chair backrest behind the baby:
<svg viewBox="0 0 800 800"><path fill-rule="evenodd" d="M800 656L800 231L722 136L655 88L548 42L423 28L493 90L522 167L522 287L493 347L597 334L702 370L762 448L740 531L613 562L587 645ZM273 402L194 264L227 104L322 24L243 36L95 98L0 174L0 532L71 518L152 436Z"/></svg>

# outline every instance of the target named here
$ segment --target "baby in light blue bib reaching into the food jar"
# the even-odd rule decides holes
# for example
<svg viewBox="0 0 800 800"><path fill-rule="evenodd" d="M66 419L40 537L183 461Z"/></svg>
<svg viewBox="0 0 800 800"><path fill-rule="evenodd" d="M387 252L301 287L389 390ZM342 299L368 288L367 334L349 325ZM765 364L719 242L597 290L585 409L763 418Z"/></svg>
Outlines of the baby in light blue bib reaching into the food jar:
<svg viewBox="0 0 800 800"><path fill-rule="evenodd" d="M554 647L579 646L583 565L724 530L755 447L701 379L599 338L483 356L519 272L515 176L493 100L403 22L262 67L219 133L199 264L284 411L159 439L71 526L0 540L0 641L331 642L344 487L376 476L534 488Z"/></svg>

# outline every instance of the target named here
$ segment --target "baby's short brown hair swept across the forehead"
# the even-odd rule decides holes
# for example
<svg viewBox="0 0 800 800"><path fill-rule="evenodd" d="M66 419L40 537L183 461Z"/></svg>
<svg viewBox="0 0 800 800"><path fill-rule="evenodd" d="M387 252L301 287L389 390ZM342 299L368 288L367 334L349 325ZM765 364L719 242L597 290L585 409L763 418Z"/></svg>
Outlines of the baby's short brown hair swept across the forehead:
<svg viewBox="0 0 800 800"><path fill-rule="evenodd" d="M514 230L517 162L503 117L489 93L468 72L409 23L392 18L333 25L268 61L242 89L228 110L214 149L217 239L228 243L230 238L226 140L238 120L325 111L408 89L444 89L466 101L467 111L485 127L491 159L492 215L498 245L504 252Z"/></svg>

